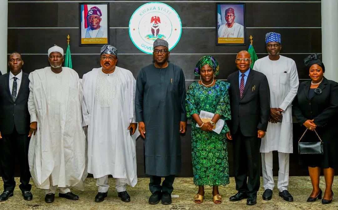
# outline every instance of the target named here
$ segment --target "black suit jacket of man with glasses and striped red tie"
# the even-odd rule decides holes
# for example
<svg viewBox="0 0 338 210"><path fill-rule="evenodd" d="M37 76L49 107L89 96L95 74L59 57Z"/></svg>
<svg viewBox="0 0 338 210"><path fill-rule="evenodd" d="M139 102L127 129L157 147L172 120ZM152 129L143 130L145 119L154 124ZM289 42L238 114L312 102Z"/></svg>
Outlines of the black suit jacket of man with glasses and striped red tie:
<svg viewBox="0 0 338 210"><path fill-rule="evenodd" d="M270 114L270 89L266 76L250 69L246 80L243 96L239 93L239 71L230 74L230 108L232 134L240 126L244 136L257 136L257 130L268 126Z"/></svg>

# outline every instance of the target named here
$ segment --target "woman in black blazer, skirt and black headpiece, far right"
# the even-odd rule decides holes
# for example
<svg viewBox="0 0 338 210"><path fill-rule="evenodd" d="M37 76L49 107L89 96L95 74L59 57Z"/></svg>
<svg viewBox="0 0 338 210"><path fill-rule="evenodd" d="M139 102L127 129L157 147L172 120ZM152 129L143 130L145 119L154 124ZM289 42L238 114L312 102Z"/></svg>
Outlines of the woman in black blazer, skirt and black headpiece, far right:
<svg viewBox="0 0 338 210"><path fill-rule="evenodd" d="M338 167L338 83L323 76L325 67L318 58L318 54L313 54L304 59L310 67L311 81L299 85L293 111L298 123L309 129L301 141L319 141L315 129L323 142L322 155L299 155L299 164L308 167L313 187L307 202L321 199L319 175L323 168L326 188L321 203L329 204L333 199L334 169Z"/></svg>

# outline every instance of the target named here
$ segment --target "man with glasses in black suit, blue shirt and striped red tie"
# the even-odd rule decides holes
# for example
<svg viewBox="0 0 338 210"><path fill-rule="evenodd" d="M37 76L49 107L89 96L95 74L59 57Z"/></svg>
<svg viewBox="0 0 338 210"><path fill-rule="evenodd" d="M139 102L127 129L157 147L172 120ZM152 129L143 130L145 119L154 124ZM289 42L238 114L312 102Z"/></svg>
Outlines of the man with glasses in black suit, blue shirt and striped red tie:
<svg viewBox="0 0 338 210"><path fill-rule="evenodd" d="M260 139L269 122L270 92L266 76L250 69L252 60L247 51L236 57L239 71L229 75L231 126L226 137L234 144L234 171L238 193L230 201L247 198L255 205L260 187Z"/></svg>

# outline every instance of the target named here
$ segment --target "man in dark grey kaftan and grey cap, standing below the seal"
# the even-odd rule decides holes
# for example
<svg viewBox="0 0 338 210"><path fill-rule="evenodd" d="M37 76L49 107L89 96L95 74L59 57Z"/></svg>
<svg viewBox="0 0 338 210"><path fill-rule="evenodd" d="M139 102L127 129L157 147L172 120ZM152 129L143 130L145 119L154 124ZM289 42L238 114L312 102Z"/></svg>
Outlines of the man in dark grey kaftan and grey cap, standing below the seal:
<svg viewBox="0 0 338 210"><path fill-rule="evenodd" d="M154 41L154 64L141 69L136 83L135 111L144 140L150 204L171 203L172 183L181 169L180 133L186 131L185 78L182 68L168 63L168 42ZM161 186L161 177L165 180Z"/></svg>

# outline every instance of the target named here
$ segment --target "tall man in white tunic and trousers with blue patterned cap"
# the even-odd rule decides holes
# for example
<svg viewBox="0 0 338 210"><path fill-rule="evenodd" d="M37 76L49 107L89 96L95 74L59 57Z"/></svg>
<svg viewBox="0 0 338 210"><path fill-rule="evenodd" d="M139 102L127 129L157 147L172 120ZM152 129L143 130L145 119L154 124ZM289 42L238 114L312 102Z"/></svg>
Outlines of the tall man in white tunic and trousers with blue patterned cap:
<svg viewBox="0 0 338 210"><path fill-rule="evenodd" d="M298 90L298 73L295 62L291 58L279 55L281 35L270 32L265 38L268 56L258 59L254 69L265 74L270 86L270 120L265 137L262 139L263 193L264 200L272 198L274 188L272 176L272 151L278 151L279 196L285 201L293 201L288 191L289 185L289 153L292 153L292 111L291 102Z"/></svg>

